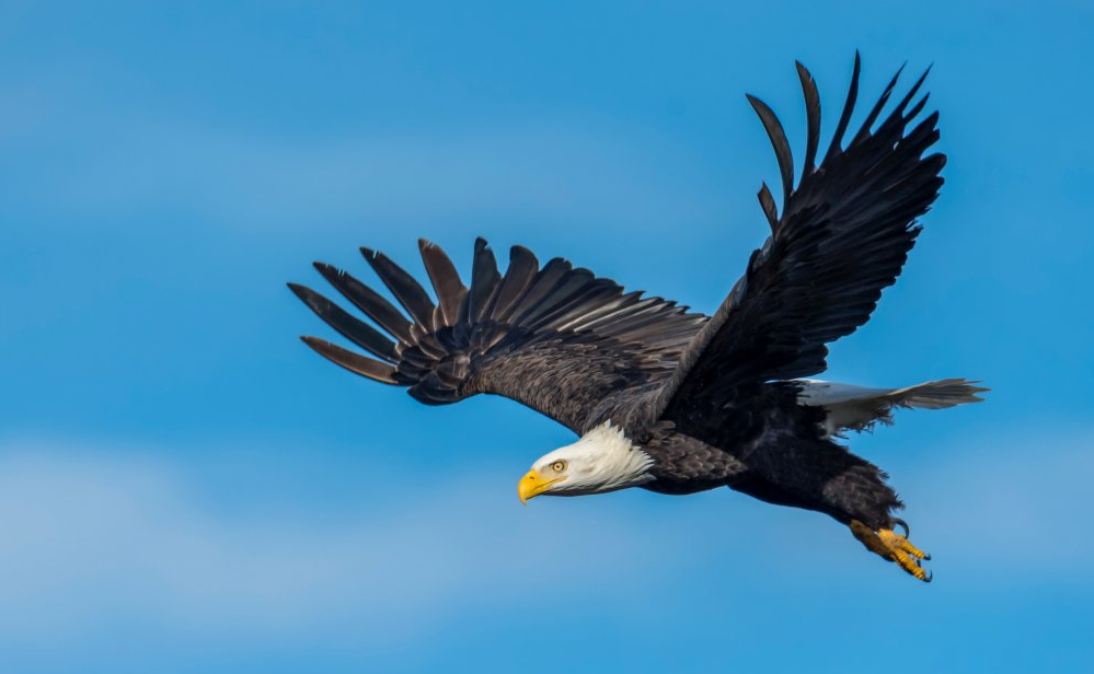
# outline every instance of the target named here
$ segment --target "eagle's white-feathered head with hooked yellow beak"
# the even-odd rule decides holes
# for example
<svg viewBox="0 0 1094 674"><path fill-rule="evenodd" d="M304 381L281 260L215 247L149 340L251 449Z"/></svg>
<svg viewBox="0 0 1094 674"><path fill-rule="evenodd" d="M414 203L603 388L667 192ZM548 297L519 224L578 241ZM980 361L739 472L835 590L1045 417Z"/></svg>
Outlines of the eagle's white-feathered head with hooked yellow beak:
<svg viewBox="0 0 1094 674"><path fill-rule="evenodd" d="M520 502L545 493L584 496L615 491L654 479L654 460L635 446L623 429L606 421L581 435L574 444L544 454L520 479Z"/></svg>

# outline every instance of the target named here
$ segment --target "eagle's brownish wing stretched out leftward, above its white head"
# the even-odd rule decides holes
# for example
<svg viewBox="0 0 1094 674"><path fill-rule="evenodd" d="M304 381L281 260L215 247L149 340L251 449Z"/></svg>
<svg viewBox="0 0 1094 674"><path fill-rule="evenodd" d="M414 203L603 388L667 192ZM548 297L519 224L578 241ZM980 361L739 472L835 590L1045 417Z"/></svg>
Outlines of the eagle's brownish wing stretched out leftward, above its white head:
<svg viewBox="0 0 1094 674"><path fill-rule="evenodd" d="M475 243L469 289L444 251L426 241L419 247L436 304L383 254L361 249L407 315L345 271L315 264L387 335L309 288L289 287L375 358L318 337L303 337L308 346L352 372L407 386L429 405L493 393L583 432L597 406L613 394L671 374L706 319L675 302L624 293L615 282L562 258L540 268L520 246L511 249L503 276L482 239Z"/></svg>

